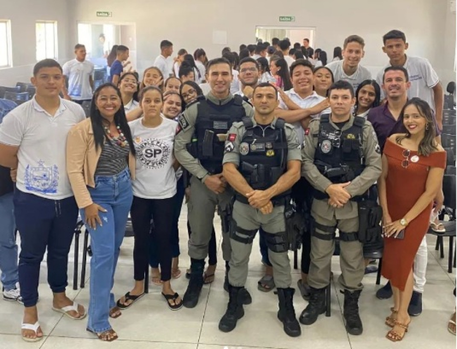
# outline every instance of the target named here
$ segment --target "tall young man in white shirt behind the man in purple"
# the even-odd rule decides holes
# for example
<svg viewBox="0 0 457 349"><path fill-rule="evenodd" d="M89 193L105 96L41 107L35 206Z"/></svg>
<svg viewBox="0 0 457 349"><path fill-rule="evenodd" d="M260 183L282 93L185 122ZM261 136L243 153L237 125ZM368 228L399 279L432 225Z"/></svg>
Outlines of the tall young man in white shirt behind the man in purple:
<svg viewBox="0 0 457 349"><path fill-rule="evenodd" d="M442 129L444 92L432 64L426 58L406 55L408 43L405 33L400 30L390 30L382 40L384 43L382 51L389 57L389 64L383 67L376 77L379 86L382 84L385 68L392 65L406 68L411 83L408 98L419 97L429 103L430 108L435 112L438 127ZM384 98L383 91L381 91L381 97Z"/></svg>

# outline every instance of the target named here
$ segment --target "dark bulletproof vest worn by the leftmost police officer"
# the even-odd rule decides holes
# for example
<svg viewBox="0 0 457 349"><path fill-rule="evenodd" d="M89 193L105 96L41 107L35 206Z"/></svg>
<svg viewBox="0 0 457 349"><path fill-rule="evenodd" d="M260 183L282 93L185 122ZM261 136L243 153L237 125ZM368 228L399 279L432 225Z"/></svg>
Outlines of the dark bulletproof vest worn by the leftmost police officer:
<svg viewBox="0 0 457 349"><path fill-rule="evenodd" d="M243 99L235 95L232 100L218 105L209 99L200 101L195 122L198 159L211 173L222 172L225 141L219 141L218 134L226 134L234 122L246 116Z"/></svg>

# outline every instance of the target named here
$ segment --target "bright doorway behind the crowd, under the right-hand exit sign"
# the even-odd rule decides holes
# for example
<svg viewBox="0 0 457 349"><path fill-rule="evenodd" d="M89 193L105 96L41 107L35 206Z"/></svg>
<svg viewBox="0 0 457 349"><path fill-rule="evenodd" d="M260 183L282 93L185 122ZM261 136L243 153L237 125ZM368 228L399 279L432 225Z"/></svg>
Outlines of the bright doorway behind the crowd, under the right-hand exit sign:
<svg viewBox="0 0 457 349"><path fill-rule="evenodd" d="M256 26L255 37L257 40L263 42L268 41L271 43L271 39L278 38L289 39L290 43L300 43L303 46L303 39L309 39L309 46L314 47L315 41L315 27L279 27L279 26Z"/></svg>

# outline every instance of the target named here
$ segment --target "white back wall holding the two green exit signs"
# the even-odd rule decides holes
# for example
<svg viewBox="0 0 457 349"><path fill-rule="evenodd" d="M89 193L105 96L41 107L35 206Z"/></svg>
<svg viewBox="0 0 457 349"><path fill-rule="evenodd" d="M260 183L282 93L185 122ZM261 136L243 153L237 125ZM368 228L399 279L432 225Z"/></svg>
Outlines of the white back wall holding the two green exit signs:
<svg viewBox="0 0 457 349"><path fill-rule="evenodd" d="M324 5L319 0L130 0L128 5L79 0L72 12L75 21L95 21L100 20L96 11L111 11L109 21L136 23L139 71L153 63L163 39L172 41L175 51L202 47L215 57L224 46L238 49L241 43L252 43L256 25L284 25L316 27L315 48L330 56L345 37L360 34L366 41L363 64L376 73L387 62L382 35L398 28L406 33L409 54L429 58L444 74L443 82L455 80L455 15L450 14L448 0L328 0ZM279 16L295 16L296 21L279 22ZM213 45L213 30L227 31L227 45Z"/></svg>

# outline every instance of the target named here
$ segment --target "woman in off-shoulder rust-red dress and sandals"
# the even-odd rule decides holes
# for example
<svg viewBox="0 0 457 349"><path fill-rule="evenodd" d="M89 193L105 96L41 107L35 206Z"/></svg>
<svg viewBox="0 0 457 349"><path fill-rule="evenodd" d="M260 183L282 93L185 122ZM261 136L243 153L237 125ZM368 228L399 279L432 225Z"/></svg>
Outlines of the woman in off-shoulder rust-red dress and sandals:
<svg viewBox="0 0 457 349"><path fill-rule="evenodd" d="M385 321L393 328L386 335L391 341L402 340L411 322L408 305L414 284L414 256L429 229L433 198L446 166L446 152L435 141L429 104L412 98L399 118L406 133L393 134L385 143L378 181L384 229L382 275L394 292L394 307ZM404 238L399 238L402 235Z"/></svg>

